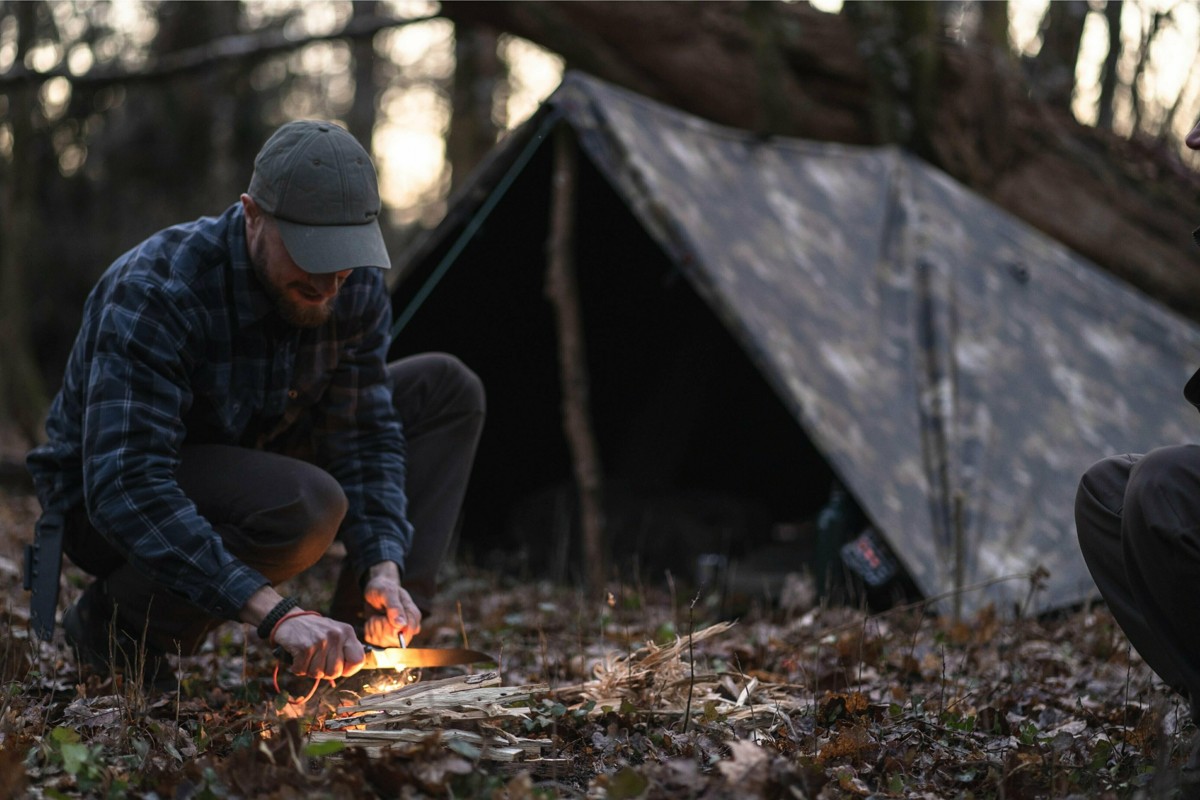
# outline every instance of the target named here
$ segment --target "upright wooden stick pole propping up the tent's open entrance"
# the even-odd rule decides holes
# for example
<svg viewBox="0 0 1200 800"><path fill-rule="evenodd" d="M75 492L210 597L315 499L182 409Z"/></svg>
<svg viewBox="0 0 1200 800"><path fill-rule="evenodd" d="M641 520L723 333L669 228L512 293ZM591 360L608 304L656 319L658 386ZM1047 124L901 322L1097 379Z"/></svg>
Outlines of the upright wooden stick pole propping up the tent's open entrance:
<svg viewBox="0 0 1200 800"><path fill-rule="evenodd" d="M546 241L546 297L558 324L558 362L563 390L563 431L571 452L580 523L583 534L584 578L595 593L604 589L604 473L600 465L588 399L583 315L575 273L575 206L578 179L575 139L569 126L554 131L551 178L550 237ZM568 533L569 535L569 533Z"/></svg>

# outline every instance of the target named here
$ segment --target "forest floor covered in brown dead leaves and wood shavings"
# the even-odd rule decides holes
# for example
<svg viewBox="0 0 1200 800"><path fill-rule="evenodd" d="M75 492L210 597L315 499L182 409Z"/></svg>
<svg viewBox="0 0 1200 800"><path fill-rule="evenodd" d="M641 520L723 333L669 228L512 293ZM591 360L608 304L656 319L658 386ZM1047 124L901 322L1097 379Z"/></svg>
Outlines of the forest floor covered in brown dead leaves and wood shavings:
<svg viewBox="0 0 1200 800"><path fill-rule="evenodd" d="M301 703L311 682L277 692L268 648L230 624L156 694L80 674L61 631L31 636L18 566L36 511L0 494L0 799L1181 796L1186 706L1103 607L954 622L758 602L730 619L670 584L588 597L460 566L418 644L494 664L398 692L360 673ZM319 607L336 561L293 594ZM84 582L67 567L62 608ZM373 690L463 673L506 691L385 716L390 744L346 724Z"/></svg>

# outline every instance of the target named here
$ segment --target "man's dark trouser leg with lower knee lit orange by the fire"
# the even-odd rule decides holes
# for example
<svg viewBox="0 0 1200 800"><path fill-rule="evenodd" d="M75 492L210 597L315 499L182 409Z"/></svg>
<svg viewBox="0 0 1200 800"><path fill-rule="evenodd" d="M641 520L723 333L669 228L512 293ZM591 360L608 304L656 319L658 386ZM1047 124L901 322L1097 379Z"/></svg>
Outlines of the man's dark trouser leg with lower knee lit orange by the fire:
<svg viewBox="0 0 1200 800"><path fill-rule="evenodd" d="M176 477L229 552L274 585L312 566L346 516L346 495L337 481L287 456L223 445L191 446L181 452ZM89 546L102 546L94 530L76 536L74 549L84 548L77 561L88 560ZM115 606L118 627L133 638L144 632L149 648L162 654L191 655L224 621L126 563L89 587L84 600L96 607L96 614L110 614Z"/></svg>

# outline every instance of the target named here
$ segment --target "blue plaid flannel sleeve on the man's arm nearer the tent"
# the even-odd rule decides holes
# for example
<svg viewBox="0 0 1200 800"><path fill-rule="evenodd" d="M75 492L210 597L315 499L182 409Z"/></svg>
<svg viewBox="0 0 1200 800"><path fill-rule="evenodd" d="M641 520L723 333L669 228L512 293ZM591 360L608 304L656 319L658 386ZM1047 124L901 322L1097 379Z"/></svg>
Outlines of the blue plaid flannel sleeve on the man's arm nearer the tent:
<svg viewBox="0 0 1200 800"><path fill-rule="evenodd" d="M316 415L318 463L346 492L342 541L359 576L380 561L404 572L413 541L404 495L406 445L388 379L391 306L372 276L362 327L341 357Z"/></svg>

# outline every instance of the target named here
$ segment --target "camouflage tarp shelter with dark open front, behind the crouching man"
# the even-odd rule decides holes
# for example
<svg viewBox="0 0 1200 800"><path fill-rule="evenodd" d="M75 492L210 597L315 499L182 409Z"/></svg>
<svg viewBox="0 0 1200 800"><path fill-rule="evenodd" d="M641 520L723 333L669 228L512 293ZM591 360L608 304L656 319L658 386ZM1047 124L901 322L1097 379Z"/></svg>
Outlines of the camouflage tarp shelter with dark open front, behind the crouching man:
<svg viewBox="0 0 1200 800"><path fill-rule="evenodd" d="M1036 608L1094 596L1079 476L1196 438L1200 330L899 149L756 137L576 73L397 259L394 354L452 351L488 387L464 539L548 551L570 497L547 489L571 469L544 290L564 131L618 547L769 542L836 476L926 596L991 582L964 608L1013 608L1028 582L992 579L1037 565Z"/></svg>

